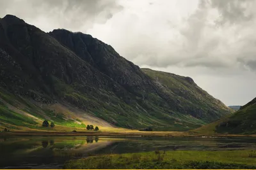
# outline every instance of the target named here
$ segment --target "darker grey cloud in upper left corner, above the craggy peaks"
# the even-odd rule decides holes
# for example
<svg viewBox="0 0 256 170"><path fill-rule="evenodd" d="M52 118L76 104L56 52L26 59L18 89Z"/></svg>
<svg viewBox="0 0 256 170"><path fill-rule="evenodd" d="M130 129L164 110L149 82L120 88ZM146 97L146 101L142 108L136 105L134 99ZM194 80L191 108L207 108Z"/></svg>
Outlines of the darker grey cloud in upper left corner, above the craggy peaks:
<svg viewBox="0 0 256 170"><path fill-rule="evenodd" d="M8 0L0 1L0 15L17 15L27 22L46 22L57 28L76 29L104 24L122 10L115 0ZM40 27L41 25L36 25ZM41 27L40 27L41 28ZM50 31L50 30L47 30Z"/></svg>

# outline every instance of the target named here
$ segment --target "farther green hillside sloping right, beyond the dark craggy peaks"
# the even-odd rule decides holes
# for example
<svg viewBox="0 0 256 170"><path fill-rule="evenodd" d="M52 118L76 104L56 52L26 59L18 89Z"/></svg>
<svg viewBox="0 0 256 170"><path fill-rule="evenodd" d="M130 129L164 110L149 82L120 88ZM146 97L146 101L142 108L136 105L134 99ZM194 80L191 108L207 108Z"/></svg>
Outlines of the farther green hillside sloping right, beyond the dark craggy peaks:
<svg viewBox="0 0 256 170"><path fill-rule="evenodd" d="M142 70L159 88L175 99L178 105L187 110L189 115L200 118L204 123L213 122L223 115L232 113L232 110L221 101L198 87L192 78L152 69Z"/></svg>

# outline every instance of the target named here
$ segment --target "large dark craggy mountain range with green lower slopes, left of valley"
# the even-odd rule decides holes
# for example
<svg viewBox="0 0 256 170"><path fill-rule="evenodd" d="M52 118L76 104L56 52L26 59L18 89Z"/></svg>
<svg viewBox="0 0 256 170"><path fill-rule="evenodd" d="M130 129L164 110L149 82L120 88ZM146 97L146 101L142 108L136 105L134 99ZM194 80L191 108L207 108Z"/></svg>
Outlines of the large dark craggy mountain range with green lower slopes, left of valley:
<svg viewBox="0 0 256 170"><path fill-rule="evenodd" d="M231 112L191 78L140 69L88 34L0 19L0 127L184 131Z"/></svg>

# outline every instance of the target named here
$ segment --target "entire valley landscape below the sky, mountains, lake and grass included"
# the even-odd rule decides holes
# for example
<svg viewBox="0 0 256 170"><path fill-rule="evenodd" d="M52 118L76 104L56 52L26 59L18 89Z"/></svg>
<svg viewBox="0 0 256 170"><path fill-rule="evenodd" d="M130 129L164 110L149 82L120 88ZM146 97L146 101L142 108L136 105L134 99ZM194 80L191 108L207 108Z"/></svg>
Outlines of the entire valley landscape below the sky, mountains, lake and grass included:
<svg viewBox="0 0 256 170"><path fill-rule="evenodd" d="M255 169L255 113L90 34L0 18L0 168Z"/></svg>

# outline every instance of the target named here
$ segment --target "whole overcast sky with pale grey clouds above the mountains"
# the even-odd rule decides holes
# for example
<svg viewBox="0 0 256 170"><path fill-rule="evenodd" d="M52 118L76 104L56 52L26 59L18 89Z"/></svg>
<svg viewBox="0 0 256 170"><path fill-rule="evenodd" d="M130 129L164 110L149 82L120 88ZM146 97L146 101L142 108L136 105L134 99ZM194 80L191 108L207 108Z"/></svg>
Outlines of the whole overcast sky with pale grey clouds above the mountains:
<svg viewBox="0 0 256 170"><path fill-rule="evenodd" d="M91 34L140 67L190 76L227 106L256 97L256 0L0 0L42 31Z"/></svg>

